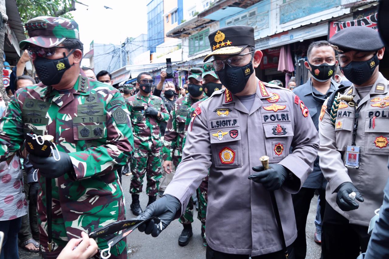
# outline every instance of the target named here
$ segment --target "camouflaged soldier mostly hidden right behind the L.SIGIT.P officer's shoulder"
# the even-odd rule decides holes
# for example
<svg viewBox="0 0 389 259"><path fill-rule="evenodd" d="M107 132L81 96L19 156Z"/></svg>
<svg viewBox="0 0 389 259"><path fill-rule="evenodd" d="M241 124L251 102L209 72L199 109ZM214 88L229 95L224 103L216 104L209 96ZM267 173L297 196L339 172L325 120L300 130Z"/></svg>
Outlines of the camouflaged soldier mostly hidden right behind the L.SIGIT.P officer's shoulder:
<svg viewBox="0 0 389 259"><path fill-rule="evenodd" d="M186 141L186 135L187 130L189 127L189 124L192 119L192 115L195 112L196 108L202 103L204 100L207 100L207 98L211 97L214 91L218 91L222 88L224 88L223 84L220 82L219 78L217 77L215 73L215 69L213 67L212 63L204 64L203 66L204 72L202 73L202 85L205 93L205 97L201 99L200 101L197 101L196 103L193 103L193 105L190 108L190 111L187 115L186 121L185 121L185 136L184 140L182 141L182 149L184 149L185 141ZM197 200L198 200L198 213L197 218L201 221L201 236L203 238L203 245L207 246L207 241L205 240L205 220L207 217L207 201L208 201L208 178L209 176L205 177L203 181L201 182L200 186L198 187L196 194L197 194ZM190 211L187 207L186 213L184 215L190 215ZM193 216L192 216L193 217Z"/></svg>

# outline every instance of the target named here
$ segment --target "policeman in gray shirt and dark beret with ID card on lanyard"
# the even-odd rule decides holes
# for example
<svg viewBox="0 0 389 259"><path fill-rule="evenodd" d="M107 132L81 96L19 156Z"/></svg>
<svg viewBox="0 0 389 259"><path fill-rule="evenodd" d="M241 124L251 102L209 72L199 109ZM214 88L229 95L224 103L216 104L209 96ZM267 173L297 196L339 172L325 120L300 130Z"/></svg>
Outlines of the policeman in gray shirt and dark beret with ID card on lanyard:
<svg viewBox="0 0 389 259"><path fill-rule="evenodd" d="M322 256L354 259L366 251L369 222L389 177L388 81L378 72L385 48L378 32L363 26L345 28L329 42L353 84L335 91L319 118L320 166L329 182Z"/></svg>

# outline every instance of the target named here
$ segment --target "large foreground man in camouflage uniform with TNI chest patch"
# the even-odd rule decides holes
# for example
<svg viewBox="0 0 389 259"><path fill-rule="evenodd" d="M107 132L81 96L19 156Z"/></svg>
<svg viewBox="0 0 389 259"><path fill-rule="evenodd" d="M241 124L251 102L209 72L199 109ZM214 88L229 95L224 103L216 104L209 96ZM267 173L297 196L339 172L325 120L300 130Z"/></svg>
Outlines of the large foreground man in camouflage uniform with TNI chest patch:
<svg viewBox="0 0 389 259"><path fill-rule="evenodd" d="M57 258L70 238L123 220L116 169L133 152L127 107L111 86L80 75L82 43L75 21L36 17L26 23L28 49L41 83L19 89L0 120L0 159L15 154L25 133L52 135L60 159L30 154L38 169L38 224L43 258ZM52 186L52 238L48 245L46 181ZM107 242L97 238L99 249ZM125 240L111 250L126 258ZM112 257L111 257L112 258Z"/></svg>

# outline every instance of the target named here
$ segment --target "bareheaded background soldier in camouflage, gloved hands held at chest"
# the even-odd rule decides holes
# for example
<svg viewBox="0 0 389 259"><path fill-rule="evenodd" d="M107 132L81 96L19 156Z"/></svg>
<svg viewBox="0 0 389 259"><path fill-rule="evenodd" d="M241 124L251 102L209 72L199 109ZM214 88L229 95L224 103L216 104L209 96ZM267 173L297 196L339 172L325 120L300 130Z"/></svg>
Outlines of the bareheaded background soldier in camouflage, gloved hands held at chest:
<svg viewBox="0 0 389 259"><path fill-rule="evenodd" d="M131 123L134 129L135 154L131 161L132 196L131 211L134 215L142 213L139 193L142 192L143 177L146 174L146 194L149 203L157 198L159 179L161 179L161 130L160 124L169 119L162 99L150 94L153 80L149 73L140 73L137 77L139 92L128 98Z"/></svg>

